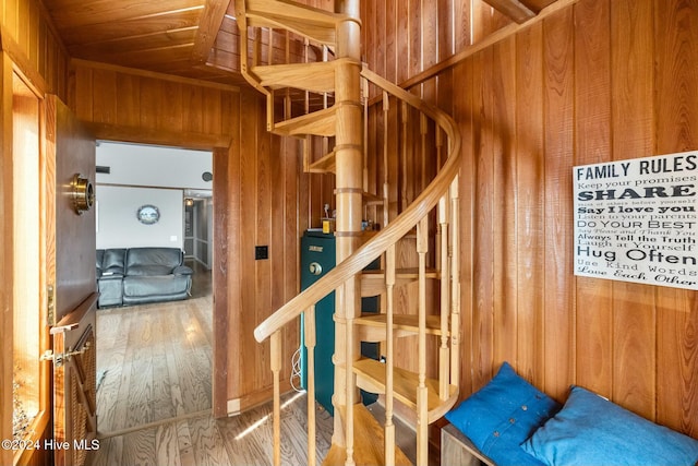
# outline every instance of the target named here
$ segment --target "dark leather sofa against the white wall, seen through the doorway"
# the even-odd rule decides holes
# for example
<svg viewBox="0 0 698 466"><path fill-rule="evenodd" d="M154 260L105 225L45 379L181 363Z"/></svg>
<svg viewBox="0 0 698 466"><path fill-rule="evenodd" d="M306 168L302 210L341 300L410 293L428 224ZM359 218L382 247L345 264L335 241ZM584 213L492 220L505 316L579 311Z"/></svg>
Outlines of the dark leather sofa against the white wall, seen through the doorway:
<svg viewBox="0 0 698 466"><path fill-rule="evenodd" d="M97 307L186 299L193 271L183 261L179 248L98 249Z"/></svg>

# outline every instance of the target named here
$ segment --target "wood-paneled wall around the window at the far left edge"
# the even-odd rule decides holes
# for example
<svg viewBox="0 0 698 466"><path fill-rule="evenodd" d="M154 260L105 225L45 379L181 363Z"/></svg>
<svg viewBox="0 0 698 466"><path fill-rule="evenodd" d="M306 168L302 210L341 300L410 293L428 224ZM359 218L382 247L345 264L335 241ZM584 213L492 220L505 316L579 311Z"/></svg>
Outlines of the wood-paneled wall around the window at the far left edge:
<svg viewBox="0 0 698 466"><path fill-rule="evenodd" d="M0 231L2 231L2 252L0 253L0 438L12 439L12 381L14 371L13 354L13 199L12 147L13 147L13 105L12 73L17 71L28 81L37 93L52 92L65 95L65 70L68 55L56 40L56 35L45 20L43 7L38 1L3 0L0 9L0 49L2 51L0 89L2 104L0 111ZM38 310L36 311L38 312ZM48 416L46 417L48 422ZM38 426L38 437L51 438L50 422ZM0 464L12 464L13 451L0 451ZM34 453L34 452L32 452ZM27 464L48 464L50 452L25 455Z"/></svg>

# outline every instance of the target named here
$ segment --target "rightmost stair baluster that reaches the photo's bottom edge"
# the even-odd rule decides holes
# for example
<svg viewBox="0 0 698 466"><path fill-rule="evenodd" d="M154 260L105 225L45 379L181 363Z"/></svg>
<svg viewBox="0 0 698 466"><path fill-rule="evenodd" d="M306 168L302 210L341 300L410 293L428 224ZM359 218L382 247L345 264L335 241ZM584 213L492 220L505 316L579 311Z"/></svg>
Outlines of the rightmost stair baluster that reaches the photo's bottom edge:
<svg viewBox="0 0 698 466"><path fill-rule="evenodd" d="M429 216L417 224L419 254L419 384L417 385L417 464L429 459L429 406L426 390L426 252L429 251Z"/></svg>

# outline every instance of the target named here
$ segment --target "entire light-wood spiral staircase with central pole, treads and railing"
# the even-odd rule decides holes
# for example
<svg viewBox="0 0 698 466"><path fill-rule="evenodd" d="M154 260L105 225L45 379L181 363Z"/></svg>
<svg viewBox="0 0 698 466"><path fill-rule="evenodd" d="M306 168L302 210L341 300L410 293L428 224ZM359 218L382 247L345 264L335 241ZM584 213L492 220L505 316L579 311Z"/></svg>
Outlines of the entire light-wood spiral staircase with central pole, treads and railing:
<svg viewBox="0 0 698 466"><path fill-rule="evenodd" d="M308 464L315 465L314 346L315 303L337 292L335 365L335 425L333 444L325 465L411 464L396 447L396 406L411 411L417 438L416 462L428 464L429 425L442 418L458 398L459 380L459 249L458 169L460 136L450 117L414 94L371 72L360 61L358 1L342 2L346 12L336 13L288 0L237 0L240 27L241 71L248 82L267 99L267 129L276 134L304 141L304 169L336 176L337 266L296 298L279 308L255 330L258 342L270 340L274 374L274 464L281 464L280 438L280 330L304 314L308 347ZM352 11L353 10L353 11ZM282 60L274 50L274 31L305 44L305 52ZM262 43L266 38L266 59ZM310 51L309 51L310 50ZM312 57L311 57L312 56ZM301 60L298 60L301 57ZM293 61L296 60L296 61ZM369 89L374 91L374 98ZM284 110L277 118L281 101ZM382 104L387 121L390 108L399 110L401 127L392 134L383 124L383 154L368 154L364 138L368 109ZM373 112L381 115L381 111ZM409 136L410 124L419 136ZM389 142L395 138L395 142ZM321 141L326 155L313 157L310 147ZM410 148L407 148L410 146ZM421 151L433 159L436 175L409 205L390 198L388 160L401 159L392 151ZM382 195L366 192L366 158L382 159L385 182ZM378 162L381 163L381 162ZM423 168L423 167L422 167ZM426 170L424 170L426 171ZM366 205L377 205L383 228L374 235L361 231L360 217ZM377 214L376 214L377 215ZM376 222L377 223L377 222ZM430 236L430 231L432 235ZM414 244L416 264L404 262L398 251ZM430 251L430 246L433 251ZM376 259L382 270L364 272ZM396 290L416 286L416 303L398 309ZM414 285L416 284L416 285ZM429 284L429 286L428 286ZM434 290L434 292L428 292ZM435 295L435 297L434 297ZM381 296L378 314L362 314L361 297ZM436 306L437 309L430 309ZM418 370L395 363L399 338L413 338L418 348ZM428 338L434 342L428 344ZM378 342L383 361L363 358L360 342ZM428 351L435 351L429 360ZM433 374L433 377L428 377ZM385 421L378 423L358 399L358 389L382 396Z"/></svg>

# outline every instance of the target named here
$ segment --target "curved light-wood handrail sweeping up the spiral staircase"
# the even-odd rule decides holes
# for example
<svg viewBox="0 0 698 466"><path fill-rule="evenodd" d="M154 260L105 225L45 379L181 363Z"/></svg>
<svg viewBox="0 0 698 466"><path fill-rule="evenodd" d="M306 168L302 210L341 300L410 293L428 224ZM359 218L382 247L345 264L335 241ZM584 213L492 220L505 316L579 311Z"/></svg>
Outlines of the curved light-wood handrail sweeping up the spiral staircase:
<svg viewBox="0 0 698 466"><path fill-rule="evenodd" d="M408 93L384 77L381 77L365 67L361 71L361 75L434 120L436 124L444 130L450 142L448 158L426 189L386 228L357 249L350 256L337 264L337 266L329 271L324 277L280 307L262 322L254 330L254 337L260 343L264 342L288 322L298 318L310 306L334 291L349 277L360 273L375 258L385 252L390 244L394 244L402 238L422 217L434 208L442 195L448 191L452 181L456 178L460 169L460 133L450 116L426 104L418 96Z"/></svg>

